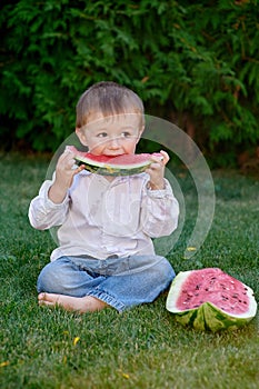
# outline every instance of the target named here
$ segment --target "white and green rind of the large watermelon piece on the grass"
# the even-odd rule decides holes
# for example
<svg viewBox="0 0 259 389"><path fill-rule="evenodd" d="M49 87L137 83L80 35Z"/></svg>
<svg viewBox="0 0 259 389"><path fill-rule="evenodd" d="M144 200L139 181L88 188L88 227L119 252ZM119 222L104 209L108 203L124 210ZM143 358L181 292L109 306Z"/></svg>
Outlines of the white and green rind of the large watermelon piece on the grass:
<svg viewBox="0 0 259 389"><path fill-rule="evenodd" d="M215 306L212 302L203 302L198 308L180 310L176 303L181 291L181 287L192 270L181 271L173 279L166 302L168 311L173 313L176 321L183 326L189 326L196 330L210 330L212 332L220 330L235 330L247 325L257 313L257 302L251 288L246 286L249 298L248 311L240 315L229 313Z"/></svg>

